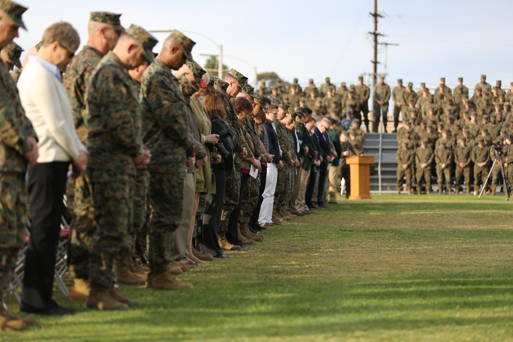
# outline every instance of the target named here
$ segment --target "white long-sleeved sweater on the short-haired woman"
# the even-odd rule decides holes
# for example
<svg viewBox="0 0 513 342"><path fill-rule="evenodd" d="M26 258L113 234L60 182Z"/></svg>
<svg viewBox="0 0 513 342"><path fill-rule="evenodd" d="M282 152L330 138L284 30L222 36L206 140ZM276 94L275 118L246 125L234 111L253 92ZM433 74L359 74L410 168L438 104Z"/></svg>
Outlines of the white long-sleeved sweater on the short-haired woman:
<svg viewBox="0 0 513 342"><path fill-rule="evenodd" d="M25 115L37 134L37 163L68 162L86 148L76 135L68 94L60 80L32 58L17 83Z"/></svg>

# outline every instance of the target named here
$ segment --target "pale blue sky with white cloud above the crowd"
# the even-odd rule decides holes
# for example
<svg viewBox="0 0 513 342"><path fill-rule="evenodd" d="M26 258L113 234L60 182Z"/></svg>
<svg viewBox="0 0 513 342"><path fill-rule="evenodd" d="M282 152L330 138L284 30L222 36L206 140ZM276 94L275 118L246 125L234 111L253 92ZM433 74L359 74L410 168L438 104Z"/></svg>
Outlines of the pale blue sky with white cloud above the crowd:
<svg viewBox="0 0 513 342"><path fill-rule="evenodd" d="M223 46L223 63L242 72L254 85L257 72L276 72L284 81L299 78L302 85L357 84L358 76L372 73L373 0L15 0L29 8L23 15L28 31L15 40L25 50L41 40L43 31L57 21L69 22L87 42L91 11L123 13L121 23L150 30L177 29L196 42L193 58L201 65ZM379 0L384 16L378 31L387 51L387 83L398 78L419 88L435 88L440 77L453 88L458 77L473 88L480 75L502 88L513 82L513 1L511 0ZM160 43L166 33L154 33ZM210 38L206 38L206 37ZM215 44L213 42L215 42ZM23 57L23 55L22 55ZM384 72L385 50L378 53L378 73ZM367 82L366 82L367 83ZM372 83L372 77L370 77Z"/></svg>

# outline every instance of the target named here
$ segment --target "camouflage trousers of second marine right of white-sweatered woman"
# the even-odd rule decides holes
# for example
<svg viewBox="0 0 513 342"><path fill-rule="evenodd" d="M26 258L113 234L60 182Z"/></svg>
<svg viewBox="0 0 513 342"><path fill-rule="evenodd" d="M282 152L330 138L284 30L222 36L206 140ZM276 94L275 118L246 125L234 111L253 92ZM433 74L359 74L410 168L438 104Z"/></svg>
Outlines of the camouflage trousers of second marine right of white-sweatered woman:
<svg viewBox="0 0 513 342"><path fill-rule="evenodd" d="M96 227L89 257L89 281L110 288L116 281L117 259L130 255L134 177L101 169L89 169L89 177Z"/></svg>

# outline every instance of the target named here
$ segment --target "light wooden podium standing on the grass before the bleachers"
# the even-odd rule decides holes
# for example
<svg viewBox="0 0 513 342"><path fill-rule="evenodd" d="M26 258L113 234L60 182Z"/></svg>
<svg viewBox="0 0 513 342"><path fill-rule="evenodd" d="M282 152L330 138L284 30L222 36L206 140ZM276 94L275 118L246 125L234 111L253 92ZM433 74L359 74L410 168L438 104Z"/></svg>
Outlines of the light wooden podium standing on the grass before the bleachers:
<svg viewBox="0 0 513 342"><path fill-rule="evenodd" d="M346 158L351 170L351 194L349 199L370 199L370 165L373 155L355 155Z"/></svg>

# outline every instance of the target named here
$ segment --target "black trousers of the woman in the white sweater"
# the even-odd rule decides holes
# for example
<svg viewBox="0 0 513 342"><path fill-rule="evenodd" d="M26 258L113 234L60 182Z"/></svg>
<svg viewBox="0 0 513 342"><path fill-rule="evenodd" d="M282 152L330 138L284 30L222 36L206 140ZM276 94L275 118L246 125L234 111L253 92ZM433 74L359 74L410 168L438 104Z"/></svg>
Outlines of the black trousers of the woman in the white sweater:
<svg viewBox="0 0 513 342"><path fill-rule="evenodd" d="M69 162L40 163L29 172L32 228L25 261L22 308L47 311L57 306L52 299L53 276L68 167Z"/></svg>

